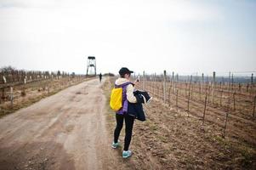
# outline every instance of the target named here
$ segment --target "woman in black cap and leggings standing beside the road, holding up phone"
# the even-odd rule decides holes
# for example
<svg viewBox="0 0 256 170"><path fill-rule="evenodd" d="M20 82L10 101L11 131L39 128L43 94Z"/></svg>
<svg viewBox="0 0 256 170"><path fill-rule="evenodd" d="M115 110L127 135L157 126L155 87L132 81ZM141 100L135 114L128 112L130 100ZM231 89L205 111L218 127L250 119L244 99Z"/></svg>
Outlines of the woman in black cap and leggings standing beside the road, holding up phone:
<svg viewBox="0 0 256 170"><path fill-rule="evenodd" d="M115 82L116 87L122 87L123 94L122 94L122 108L121 110L116 112L116 120L117 120L117 127L115 128L114 132L114 141L112 143L112 148L116 149L120 146L118 142L118 138L120 132L122 130L123 119L125 121L125 138L124 138L124 147L122 151L122 157L128 158L132 155L132 151L128 150L129 144L132 139L133 127L134 127L134 116L130 116L125 111L125 108L128 108L129 103L136 103L137 99L134 96L134 85L138 84L139 82L130 82L131 73L134 71L129 71L128 68L122 67L119 71L120 77L117 78Z"/></svg>

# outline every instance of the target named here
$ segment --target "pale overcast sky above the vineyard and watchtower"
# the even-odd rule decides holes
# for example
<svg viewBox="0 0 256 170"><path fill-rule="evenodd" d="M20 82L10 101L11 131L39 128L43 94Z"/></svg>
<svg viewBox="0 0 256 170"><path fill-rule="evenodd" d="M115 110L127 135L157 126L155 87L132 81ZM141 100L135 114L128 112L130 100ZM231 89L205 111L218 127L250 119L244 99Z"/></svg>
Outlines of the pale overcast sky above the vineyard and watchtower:
<svg viewBox="0 0 256 170"><path fill-rule="evenodd" d="M0 67L256 71L253 0L0 0Z"/></svg>

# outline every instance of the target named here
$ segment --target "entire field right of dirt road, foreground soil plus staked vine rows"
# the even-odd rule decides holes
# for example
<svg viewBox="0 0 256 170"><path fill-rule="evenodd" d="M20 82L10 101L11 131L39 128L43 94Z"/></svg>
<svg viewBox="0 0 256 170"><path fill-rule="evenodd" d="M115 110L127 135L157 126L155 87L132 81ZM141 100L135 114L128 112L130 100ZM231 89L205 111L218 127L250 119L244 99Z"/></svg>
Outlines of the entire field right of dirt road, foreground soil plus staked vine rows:
<svg viewBox="0 0 256 170"><path fill-rule="evenodd" d="M134 156L126 165L133 169L253 169L254 87L250 85L247 91L247 83L241 83L238 92L236 81L216 82L213 87L210 81L179 78L140 76L137 88L148 91L153 99L144 108L146 121L134 123ZM110 78L106 87L111 90L114 82ZM109 113L112 135L115 117L112 111Z"/></svg>

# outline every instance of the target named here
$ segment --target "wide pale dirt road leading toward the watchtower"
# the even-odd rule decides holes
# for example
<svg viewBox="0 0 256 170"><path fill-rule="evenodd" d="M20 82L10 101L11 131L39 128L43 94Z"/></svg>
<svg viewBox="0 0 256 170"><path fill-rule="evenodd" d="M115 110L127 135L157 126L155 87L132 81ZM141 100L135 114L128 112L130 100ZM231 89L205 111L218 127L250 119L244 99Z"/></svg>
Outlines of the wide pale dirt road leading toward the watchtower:
<svg viewBox="0 0 256 170"><path fill-rule="evenodd" d="M94 79L4 116L0 119L0 169L118 166L111 162L114 155L104 114L105 96Z"/></svg>

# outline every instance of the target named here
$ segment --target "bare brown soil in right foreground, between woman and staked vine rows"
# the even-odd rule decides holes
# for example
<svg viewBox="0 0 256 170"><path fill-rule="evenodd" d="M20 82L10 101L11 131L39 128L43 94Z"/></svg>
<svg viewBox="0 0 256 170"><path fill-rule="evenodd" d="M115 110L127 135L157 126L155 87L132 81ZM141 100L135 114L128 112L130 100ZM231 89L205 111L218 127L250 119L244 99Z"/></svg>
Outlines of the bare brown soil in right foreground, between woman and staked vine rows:
<svg viewBox="0 0 256 170"><path fill-rule="evenodd" d="M111 79L109 87L113 81ZM216 123L221 111L209 108L208 119L202 125L198 115L202 105L193 105L189 115L185 111L185 99L180 99L179 105L177 111L176 107L163 105L161 100L154 98L145 107L146 122L134 123L130 145L134 156L125 162L127 166L131 169L255 169L256 127L253 121L230 116L223 138L223 122ZM115 127L112 111L107 120L112 136ZM235 125L242 123L244 127ZM123 133L121 139L123 142Z"/></svg>

